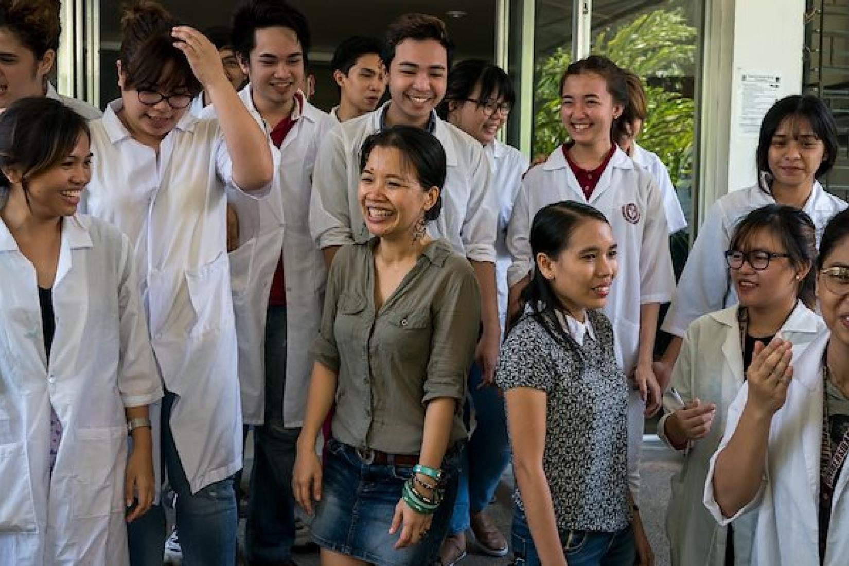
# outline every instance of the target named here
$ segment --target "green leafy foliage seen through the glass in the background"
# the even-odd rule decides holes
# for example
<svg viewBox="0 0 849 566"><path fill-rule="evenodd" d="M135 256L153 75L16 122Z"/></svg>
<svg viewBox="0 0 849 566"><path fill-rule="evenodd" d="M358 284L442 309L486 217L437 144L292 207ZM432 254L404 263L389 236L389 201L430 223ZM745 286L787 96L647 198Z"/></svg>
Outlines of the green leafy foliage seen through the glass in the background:
<svg viewBox="0 0 849 566"><path fill-rule="evenodd" d="M658 154L676 186L689 179L692 169L694 103L679 92L684 77L695 74L696 38L696 29L678 8L641 14L601 31L593 42L593 53L606 55L649 84L645 89L649 115L638 142ZM568 48L558 48L537 64L534 155L550 154L566 139L559 115L559 82L571 60Z"/></svg>

